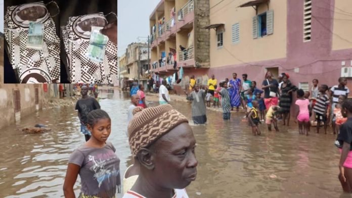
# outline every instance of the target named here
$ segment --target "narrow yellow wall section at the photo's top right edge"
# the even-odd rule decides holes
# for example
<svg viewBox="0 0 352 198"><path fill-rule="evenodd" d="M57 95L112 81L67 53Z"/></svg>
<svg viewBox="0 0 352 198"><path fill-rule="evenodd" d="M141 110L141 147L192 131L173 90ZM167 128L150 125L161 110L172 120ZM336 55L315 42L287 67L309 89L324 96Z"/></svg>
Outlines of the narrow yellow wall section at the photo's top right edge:
<svg viewBox="0 0 352 198"><path fill-rule="evenodd" d="M347 13L352 13L352 1L335 0L334 11L332 50L352 48L352 17L347 16Z"/></svg>

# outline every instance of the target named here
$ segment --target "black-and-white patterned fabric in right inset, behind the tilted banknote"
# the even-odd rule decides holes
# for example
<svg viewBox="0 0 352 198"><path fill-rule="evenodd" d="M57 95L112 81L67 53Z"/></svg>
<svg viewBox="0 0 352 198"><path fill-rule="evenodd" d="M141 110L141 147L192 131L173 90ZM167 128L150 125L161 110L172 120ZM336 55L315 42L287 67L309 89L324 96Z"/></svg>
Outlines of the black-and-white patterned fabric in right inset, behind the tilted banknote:
<svg viewBox="0 0 352 198"><path fill-rule="evenodd" d="M99 13L70 17L67 25L61 27L71 83L117 83L117 45L108 41L101 63L87 58L91 32L81 27L86 22L99 27L107 24Z"/></svg>

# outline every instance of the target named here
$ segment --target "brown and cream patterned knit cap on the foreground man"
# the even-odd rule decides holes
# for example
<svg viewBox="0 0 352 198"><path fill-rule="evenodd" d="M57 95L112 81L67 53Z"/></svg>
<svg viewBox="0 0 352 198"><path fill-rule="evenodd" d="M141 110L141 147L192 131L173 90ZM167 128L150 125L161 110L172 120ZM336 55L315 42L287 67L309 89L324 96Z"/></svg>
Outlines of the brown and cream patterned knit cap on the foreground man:
<svg viewBox="0 0 352 198"><path fill-rule="evenodd" d="M142 148L150 146L181 123L188 122L187 118L172 109L171 105L147 109L136 107L133 114L133 119L128 125L128 141L134 157Z"/></svg>

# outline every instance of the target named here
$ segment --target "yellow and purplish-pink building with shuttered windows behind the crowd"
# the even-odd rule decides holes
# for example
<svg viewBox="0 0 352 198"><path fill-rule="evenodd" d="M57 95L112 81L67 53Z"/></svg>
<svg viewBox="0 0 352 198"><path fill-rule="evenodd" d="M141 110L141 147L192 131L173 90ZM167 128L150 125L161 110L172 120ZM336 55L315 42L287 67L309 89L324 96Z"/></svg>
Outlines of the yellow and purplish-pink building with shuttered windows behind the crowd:
<svg viewBox="0 0 352 198"><path fill-rule="evenodd" d="M314 78L332 86L352 77L349 0L210 0L210 8L209 76L247 73L260 87L267 71L284 72L305 90Z"/></svg>

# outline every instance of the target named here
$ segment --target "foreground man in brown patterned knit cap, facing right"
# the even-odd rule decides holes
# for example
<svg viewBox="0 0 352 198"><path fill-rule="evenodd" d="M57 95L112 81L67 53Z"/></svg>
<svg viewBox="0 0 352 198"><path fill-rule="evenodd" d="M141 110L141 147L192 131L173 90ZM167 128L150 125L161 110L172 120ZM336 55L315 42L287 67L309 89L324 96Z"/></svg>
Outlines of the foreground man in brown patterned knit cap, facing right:
<svg viewBox="0 0 352 198"><path fill-rule="evenodd" d="M123 198L188 198L184 188L196 179L198 162L196 140L184 115L170 105L136 107L128 140L138 167L134 174L127 170L125 178L138 178Z"/></svg>

